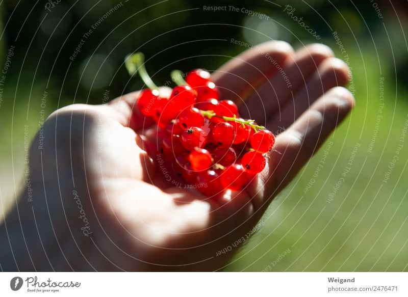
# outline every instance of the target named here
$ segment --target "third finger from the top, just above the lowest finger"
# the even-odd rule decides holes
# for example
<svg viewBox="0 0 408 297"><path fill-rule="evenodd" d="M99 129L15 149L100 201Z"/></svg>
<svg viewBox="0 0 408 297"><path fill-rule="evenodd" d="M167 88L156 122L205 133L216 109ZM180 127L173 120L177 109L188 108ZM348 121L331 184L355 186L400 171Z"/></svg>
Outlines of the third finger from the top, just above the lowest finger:
<svg viewBox="0 0 408 297"><path fill-rule="evenodd" d="M266 126L274 132L285 129L324 92L337 86L345 86L348 80L349 69L346 63L337 58L325 59L308 79L307 84L291 100L288 100L286 105L281 106L281 110L277 110L271 116Z"/></svg>

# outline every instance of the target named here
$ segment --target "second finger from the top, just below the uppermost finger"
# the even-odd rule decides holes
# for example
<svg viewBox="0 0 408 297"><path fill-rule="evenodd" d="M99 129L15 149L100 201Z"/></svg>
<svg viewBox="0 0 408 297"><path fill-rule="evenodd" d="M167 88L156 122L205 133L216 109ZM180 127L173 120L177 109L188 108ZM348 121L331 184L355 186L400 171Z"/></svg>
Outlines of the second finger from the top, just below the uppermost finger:
<svg viewBox="0 0 408 297"><path fill-rule="evenodd" d="M320 43L309 44L297 50L285 65L275 66L277 72L269 76L258 91L241 106L240 114L264 124L271 114L292 98L292 94L305 86L323 60L333 56L333 51Z"/></svg>

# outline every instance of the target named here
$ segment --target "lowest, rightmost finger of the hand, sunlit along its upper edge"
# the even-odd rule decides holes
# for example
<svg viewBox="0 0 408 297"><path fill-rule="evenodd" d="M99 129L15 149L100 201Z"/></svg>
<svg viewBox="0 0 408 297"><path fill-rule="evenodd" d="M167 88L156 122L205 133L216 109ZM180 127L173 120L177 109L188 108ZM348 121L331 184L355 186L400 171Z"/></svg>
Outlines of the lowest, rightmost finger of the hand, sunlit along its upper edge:
<svg viewBox="0 0 408 297"><path fill-rule="evenodd" d="M354 106L352 94L337 87L321 96L301 117L276 137L269 172L263 173L266 188L277 194L319 149L329 134ZM271 178L269 178L271 177Z"/></svg>

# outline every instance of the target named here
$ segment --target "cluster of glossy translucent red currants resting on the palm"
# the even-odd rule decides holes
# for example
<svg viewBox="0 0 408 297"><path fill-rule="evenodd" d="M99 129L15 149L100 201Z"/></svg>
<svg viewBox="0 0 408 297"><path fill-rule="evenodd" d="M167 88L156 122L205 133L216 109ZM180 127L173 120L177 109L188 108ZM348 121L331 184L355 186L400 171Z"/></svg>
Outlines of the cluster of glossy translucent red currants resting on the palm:
<svg viewBox="0 0 408 297"><path fill-rule="evenodd" d="M192 70L182 83L169 97L143 90L137 101L140 112L160 128L159 156L171 169L173 183L182 179L185 187L207 196L242 190L265 168L264 154L272 149L274 135L240 118L233 101L220 100L209 72Z"/></svg>

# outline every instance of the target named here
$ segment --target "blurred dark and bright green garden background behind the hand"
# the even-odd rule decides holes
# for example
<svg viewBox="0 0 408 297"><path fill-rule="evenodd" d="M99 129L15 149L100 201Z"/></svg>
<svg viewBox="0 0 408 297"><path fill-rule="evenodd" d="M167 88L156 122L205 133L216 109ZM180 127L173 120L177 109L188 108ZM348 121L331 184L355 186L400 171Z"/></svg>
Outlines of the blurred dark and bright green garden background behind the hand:
<svg viewBox="0 0 408 297"><path fill-rule="evenodd" d="M0 77L3 211L22 186L24 153L41 113L71 103L101 103L106 89L113 98L142 86L122 65L127 53L143 51L159 84L175 68L216 69L245 49L231 38L251 44L285 40L295 48L322 42L348 59L355 110L272 203L264 226L224 270L408 271L405 1L52 3L0 4L0 67L7 67ZM288 4L321 39L284 11ZM203 11L203 6L224 5L239 11ZM70 59L81 39L80 52Z"/></svg>

